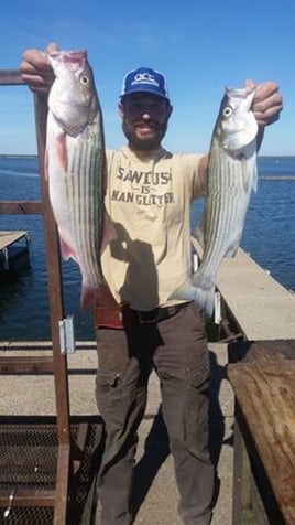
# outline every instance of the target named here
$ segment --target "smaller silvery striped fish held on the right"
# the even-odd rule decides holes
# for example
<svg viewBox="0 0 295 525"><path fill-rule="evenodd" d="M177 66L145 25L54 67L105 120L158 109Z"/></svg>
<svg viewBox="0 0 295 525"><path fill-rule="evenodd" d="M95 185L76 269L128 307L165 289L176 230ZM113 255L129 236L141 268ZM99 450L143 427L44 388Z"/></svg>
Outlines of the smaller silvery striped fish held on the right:
<svg viewBox="0 0 295 525"><path fill-rule="evenodd" d="M254 94L255 86L225 88L210 141L204 213L192 238L193 245L194 238L199 242L203 257L197 270L171 296L195 301L209 317L218 268L239 248L250 197L258 188Z"/></svg>

